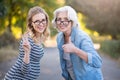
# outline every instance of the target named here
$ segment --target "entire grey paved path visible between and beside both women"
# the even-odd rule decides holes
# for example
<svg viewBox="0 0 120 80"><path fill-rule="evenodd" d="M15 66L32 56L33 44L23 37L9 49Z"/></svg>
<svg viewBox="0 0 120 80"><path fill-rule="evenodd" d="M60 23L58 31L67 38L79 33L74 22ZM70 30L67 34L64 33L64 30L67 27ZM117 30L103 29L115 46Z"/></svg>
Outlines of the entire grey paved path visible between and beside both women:
<svg viewBox="0 0 120 80"><path fill-rule="evenodd" d="M101 55L101 57L103 59L102 71L104 80L120 80L120 66L118 63L106 56ZM0 63L0 80L15 63L15 59ZM41 74L38 80L64 80L61 76L59 63L57 48L46 48L45 54L41 59Z"/></svg>

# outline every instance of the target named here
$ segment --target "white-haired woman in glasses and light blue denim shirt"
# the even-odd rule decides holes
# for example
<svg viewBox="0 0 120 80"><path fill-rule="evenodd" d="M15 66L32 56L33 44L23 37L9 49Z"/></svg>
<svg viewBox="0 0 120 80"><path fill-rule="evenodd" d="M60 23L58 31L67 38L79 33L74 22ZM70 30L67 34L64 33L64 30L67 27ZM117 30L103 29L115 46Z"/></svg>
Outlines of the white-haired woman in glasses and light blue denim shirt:
<svg viewBox="0 0 120 80"><path fill-rule="evenodd" d="M57 46L65 80L103 80L101 57L90 37L79 29L75 10L70 6L56 9L52 23L59 31Z"/></svg>

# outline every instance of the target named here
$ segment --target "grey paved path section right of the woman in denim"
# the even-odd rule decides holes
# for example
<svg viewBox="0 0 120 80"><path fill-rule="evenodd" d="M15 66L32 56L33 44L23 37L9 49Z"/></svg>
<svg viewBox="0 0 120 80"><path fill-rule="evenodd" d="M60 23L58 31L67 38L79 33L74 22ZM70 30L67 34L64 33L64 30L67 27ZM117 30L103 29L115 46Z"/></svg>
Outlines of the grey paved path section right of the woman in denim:
<svg viewBox="0 0 120 80"><path fill-rule="evenodd" d="M101 55L101 57L104 80L120 80L120 63L105 55Z"/></svg>

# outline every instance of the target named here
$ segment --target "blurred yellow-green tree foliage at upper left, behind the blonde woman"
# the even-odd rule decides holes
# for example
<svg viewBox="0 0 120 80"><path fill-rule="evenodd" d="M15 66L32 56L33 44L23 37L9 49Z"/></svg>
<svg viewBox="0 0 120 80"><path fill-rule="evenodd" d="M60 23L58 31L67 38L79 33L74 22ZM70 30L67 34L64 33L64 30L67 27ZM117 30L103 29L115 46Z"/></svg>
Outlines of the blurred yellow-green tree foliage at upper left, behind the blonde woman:
<svg viewBox="0 0 120 80"><path fill-rule="evenodd" d="M31 7L41 6L46 10L51 20L54 9L63 4L60 3L60 0L1 0L0 29L2 31L8 28L12 32L13 26L20 27L23 33L26 27L26 16Z"/></svg>

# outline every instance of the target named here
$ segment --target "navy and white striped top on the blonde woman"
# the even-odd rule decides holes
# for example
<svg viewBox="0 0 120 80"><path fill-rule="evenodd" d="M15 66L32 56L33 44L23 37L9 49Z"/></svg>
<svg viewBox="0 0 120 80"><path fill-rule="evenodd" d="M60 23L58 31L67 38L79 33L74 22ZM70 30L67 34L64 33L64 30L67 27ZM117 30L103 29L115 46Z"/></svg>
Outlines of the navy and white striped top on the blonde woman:
<svg viewBox="0 0 120 80"><path fill-rule="evenodd" d="M22 40L19 47L18 59L5 75L4 80L36 80L40 75L40 59L42 58L44 51L43 47L34 43L31 38L28 38L31 45L30 62L26 64L23 61L24 50L22 47Z"/></svg>

